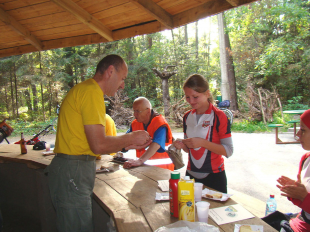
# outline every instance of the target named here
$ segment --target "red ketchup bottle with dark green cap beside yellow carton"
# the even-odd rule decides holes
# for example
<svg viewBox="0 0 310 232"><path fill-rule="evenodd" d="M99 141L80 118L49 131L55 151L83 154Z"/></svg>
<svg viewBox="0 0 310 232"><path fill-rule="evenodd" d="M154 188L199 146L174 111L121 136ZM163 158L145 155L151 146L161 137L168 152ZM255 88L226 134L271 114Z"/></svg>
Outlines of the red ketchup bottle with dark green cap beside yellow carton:
<svg viewBox="0 0 310 232"><path fill-rule="evenodd" d="M170 215L178 218L177 182L180 179L179 172L171 172L169 180Z"/></svg>

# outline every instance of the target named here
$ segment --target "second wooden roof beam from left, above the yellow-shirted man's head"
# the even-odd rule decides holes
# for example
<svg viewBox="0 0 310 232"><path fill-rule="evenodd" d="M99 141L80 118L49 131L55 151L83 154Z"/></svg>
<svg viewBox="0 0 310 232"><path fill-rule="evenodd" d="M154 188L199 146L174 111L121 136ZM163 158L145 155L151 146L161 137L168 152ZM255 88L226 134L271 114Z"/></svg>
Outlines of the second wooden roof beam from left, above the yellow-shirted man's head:
<svg viewBox="0 0 310 232"><path fill-rule="evenodd" d="M86 24L89 28L93 29L95 32L100 34L103 38L107 39L108 41L113 41L112 31L73 1L71 0L51 0L51 1L64 8L66 11L71 13L82 23Z"/></svg>

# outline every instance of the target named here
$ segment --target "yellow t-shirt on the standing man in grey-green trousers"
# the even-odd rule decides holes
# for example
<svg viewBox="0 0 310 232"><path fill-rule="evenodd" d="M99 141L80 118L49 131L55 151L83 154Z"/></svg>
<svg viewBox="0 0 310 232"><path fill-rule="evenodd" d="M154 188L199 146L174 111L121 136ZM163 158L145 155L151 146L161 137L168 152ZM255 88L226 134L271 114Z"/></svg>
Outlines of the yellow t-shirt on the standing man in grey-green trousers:
<svg viewBox="0 0 310 232"><path fill-rule="evenodd" d="M58 115L55 153L92 155L84 125L105 126L103 92L92 78L75 85L63 99Z"/></svg>

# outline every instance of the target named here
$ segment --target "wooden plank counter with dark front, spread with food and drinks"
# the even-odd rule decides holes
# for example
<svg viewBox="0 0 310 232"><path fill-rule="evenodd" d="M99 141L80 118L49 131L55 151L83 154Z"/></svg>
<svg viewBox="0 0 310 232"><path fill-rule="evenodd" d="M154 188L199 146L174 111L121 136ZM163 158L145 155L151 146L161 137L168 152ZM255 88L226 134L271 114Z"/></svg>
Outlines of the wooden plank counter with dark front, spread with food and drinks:
<svg viewBox="0 0 310 232"><path fill-rule="evenodd" d="M30 215L40 221L39 224L35 224L41 227L37 231L53 232L55 212L50 202L47 177L42 172L53 155L43 156L42 151L34 151L31 150L31 146L27 147L28 153L21 155L19 145L0 145L2 216L6 219L6 214L12 209L20 210L23 216L27 215L29 218ZM123 169L122 164L112 162L110 158L109 155L102 155L102 159L96 161L97 166L109 167L110 172L96 174L93 190L95 232L104 231L102 227L106 226L110 218L118 232L153 232L177 221L169 214L168 201L155 200L156 192L162 193L157 181L169 179L169 170L147 165ZM5 193L9 191L10 194L1 191L3 188L6 189ZM32 202L27 202L28 200L23 198L24 195L31 196ZM205 198L202 200L210 203L210 209L237 204L231 198L224 202ZM30 209L22 207L30 204ZM16 205L19 207L16 208ZM18 222L20 223L20 218ZM276 232L258 217L220 226L209 218L208 224L219 228L220 232L232 232L234 224L262 225L264 232ZM36 230L32 228L31 231Z"/></svg>

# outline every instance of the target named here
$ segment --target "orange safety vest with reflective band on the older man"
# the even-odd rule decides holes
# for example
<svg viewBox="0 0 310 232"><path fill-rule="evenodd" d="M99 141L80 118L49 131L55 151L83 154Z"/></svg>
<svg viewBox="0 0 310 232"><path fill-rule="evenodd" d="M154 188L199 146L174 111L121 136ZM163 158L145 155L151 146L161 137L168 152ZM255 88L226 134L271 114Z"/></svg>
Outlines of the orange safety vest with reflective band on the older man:
<svg viewBox="0 0 310 232"><path fill-rule="evenodd" d="M172 132L171 132L171 129L167 121L160 114L151 119L151 122L149 123L146 131L148 132L149 136L153 138L155 131L159 127L163 127L163 126L167 128L165 146L168 146L172 144ZM131 128L132 128L132 131L144 130L143 123L136 121L136 119L132 121ZM139 149L139 150L136 149L135 151L136 151L136 157L140 158L144 154L145 149L144 148ZM174 170L174 165L166 152L163 152L163 153L156 152L152 157L150 157L144 163L153 165L159 168L169 169L171 171Z"/></svg>

